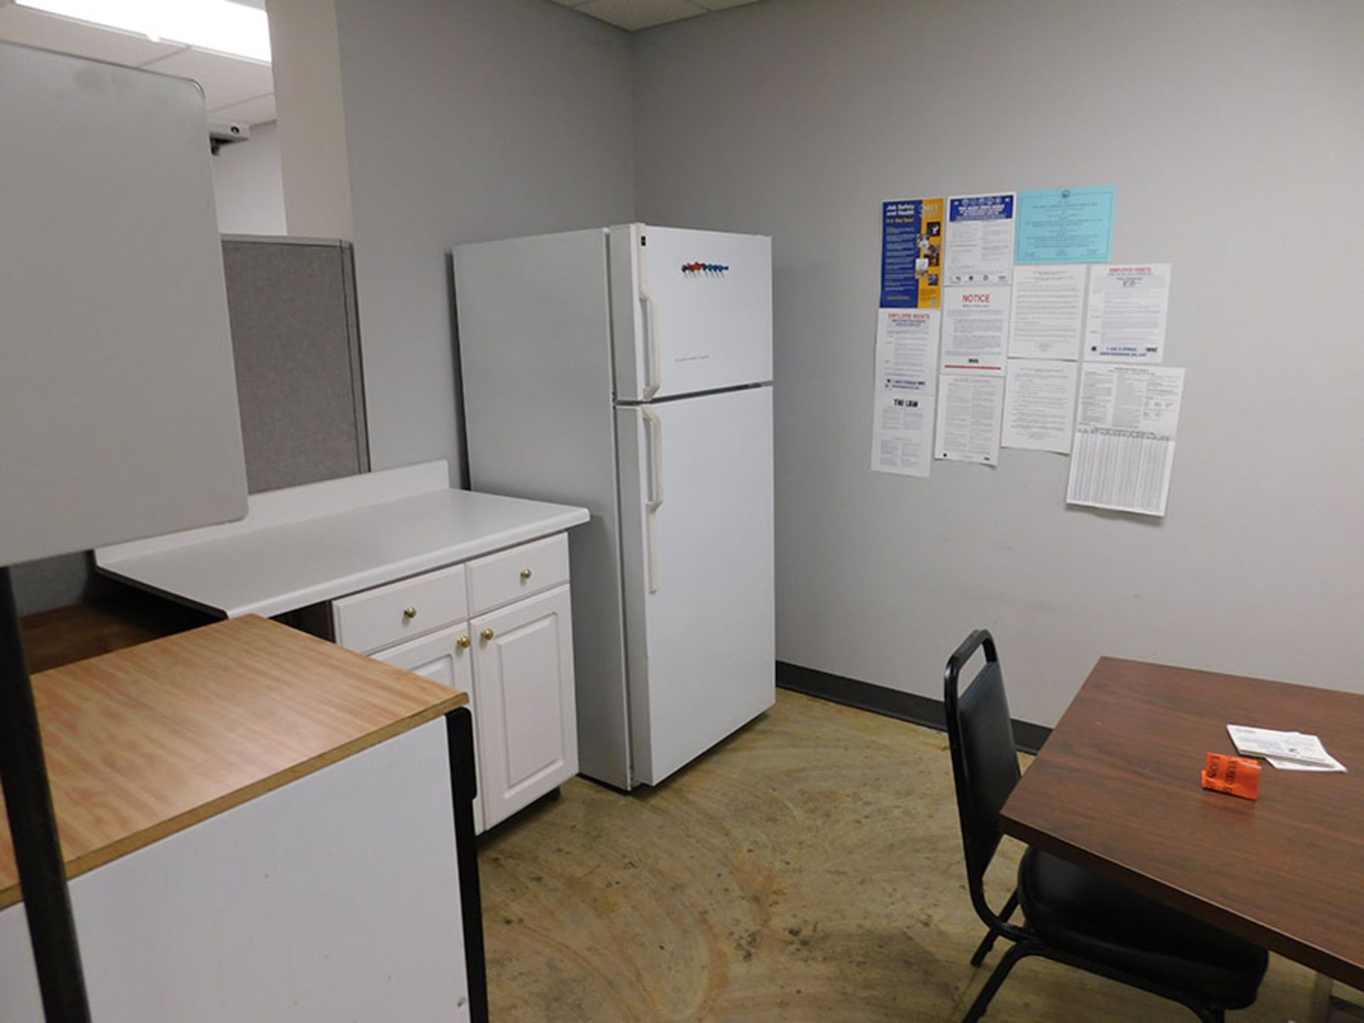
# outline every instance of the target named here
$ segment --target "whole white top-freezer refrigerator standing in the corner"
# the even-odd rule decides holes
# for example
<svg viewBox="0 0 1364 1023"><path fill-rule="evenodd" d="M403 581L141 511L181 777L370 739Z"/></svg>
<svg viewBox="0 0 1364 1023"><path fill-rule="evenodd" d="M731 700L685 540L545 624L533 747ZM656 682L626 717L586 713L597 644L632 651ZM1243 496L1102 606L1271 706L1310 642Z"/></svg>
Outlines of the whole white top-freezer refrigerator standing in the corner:
<svg viewBox="0 0 1364 1023"><path fill-rule="evenodd" d="M578 754L656 784L775 700L772 241L630 224L454 251L475 490L582 505Z"/></svg>

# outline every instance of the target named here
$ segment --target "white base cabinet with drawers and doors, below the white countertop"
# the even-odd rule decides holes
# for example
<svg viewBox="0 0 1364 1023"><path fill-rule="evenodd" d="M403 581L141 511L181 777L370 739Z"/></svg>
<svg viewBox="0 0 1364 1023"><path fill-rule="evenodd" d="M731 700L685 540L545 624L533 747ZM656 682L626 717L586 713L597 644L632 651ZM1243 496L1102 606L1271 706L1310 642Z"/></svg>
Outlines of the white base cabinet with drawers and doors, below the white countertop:
<svg viewBox="0 0 1364 1023"><path fill-rule="evenodd" d="M570 604L563 533L331 602L338 644L469 694L475 831L578 772Z"/></svg>

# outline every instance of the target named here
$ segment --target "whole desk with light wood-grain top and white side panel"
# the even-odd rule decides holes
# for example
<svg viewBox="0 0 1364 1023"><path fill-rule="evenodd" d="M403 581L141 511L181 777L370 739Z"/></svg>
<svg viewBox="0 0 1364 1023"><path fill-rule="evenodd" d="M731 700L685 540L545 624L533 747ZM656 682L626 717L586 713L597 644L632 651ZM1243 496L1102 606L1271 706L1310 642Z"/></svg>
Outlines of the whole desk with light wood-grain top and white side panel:
<svg viewBox="0 0 1364 1023"><path fill-rule="evenodd" d="M33 690L97 1019L483 1016L465 693L254 615ZM0 817L0 1019L29 1023L20 898Z"/></svg>

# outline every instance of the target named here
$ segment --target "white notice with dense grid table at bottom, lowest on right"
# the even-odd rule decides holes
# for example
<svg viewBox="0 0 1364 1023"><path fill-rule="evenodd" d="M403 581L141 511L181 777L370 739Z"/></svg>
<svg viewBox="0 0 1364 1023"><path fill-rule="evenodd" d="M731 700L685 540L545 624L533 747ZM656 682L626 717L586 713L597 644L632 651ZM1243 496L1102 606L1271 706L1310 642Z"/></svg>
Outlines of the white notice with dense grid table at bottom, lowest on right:
<svg viewBox="0 0 1364 1023"><path fill-rule="evenodd" d="M1163 516L1184 370L1086 364L1065 499Z"/></svg>

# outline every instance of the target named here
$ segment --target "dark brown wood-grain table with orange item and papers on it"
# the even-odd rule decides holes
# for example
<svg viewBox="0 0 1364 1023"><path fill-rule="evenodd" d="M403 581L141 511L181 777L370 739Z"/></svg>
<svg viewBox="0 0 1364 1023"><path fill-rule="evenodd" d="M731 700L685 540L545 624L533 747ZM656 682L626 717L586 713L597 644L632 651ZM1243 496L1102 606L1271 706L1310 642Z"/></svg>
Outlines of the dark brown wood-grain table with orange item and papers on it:
<svg viewBox="0 0 1364 1023"><path fill-rule="evenodd" d="M1349 773L1264 765L1258 802L1204 791L1228 723L1320 735ZM1364 986L1364 696L1102 657L1003 825Z"/></svg>

